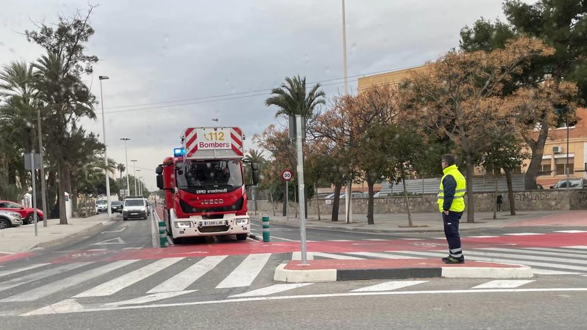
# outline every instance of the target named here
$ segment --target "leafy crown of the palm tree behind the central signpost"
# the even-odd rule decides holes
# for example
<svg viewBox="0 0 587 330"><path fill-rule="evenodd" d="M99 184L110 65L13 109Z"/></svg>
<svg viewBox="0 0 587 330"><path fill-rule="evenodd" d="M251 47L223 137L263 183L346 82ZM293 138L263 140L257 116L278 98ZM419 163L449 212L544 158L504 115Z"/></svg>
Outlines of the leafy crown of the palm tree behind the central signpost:
<svg viewBox="0 0 587 330"><path fill-rule="evenodd" d="M307 93L306 89L306 77L300 78L298 75L294 78L285 78L285 83L282 83L281 87L271 90L273 96L265 100L265 105L279 108L275 117L302 115L308 120L315 115L316 106L326 104L326 93L319 90L319 83Z"/></svg>

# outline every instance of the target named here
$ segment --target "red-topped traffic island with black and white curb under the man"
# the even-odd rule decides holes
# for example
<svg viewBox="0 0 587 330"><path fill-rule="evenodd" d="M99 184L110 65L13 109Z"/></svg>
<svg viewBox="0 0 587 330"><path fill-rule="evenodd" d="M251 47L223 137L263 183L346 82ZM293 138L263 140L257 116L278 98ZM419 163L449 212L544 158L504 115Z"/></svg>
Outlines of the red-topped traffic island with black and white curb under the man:
<svg viewBox="0 0 587 330"><path fill-rule="evenodd" d="M292 260L275 269L274 280L301 283L430 277L531 278L534 273L528 266L484 261L447 265L438 259L308 260L308 265L302 265Z"/></svg>

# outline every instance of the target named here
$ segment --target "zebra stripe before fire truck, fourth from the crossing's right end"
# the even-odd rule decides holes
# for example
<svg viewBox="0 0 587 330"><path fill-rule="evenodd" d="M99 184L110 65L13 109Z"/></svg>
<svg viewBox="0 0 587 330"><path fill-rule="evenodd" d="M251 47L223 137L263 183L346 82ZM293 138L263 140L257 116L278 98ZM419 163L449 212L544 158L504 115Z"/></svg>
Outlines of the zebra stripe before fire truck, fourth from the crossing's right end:
<svg viewBox="0 0 587 330"><path fill-rule="evenodd" d="M36 299L46 297L50 294L54 294L55 292L59 292L63 289L73 287L85 281L92 280L92 278L99 277L100 275L104 275L113 270L117 270L118 268L130 265L136 261L139 260L119 260L110 262L110 264L106 264L101 267L93 268L91 270L82 272L80 274L75 274L70 277L63 278L63 280L45 284L41 287L36 287L29 291L21 292L17 295L13 295L12 297L2 299L0 300L0 302L35 301Z"/></svg>

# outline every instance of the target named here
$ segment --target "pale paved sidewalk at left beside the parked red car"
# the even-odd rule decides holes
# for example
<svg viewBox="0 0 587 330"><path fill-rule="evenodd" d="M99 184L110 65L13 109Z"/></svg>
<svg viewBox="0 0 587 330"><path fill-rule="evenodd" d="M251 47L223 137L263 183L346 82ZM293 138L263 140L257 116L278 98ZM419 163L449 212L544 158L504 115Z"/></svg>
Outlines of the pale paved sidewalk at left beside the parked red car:
<svg viewBox="0 0 587 330"><path fill-rule="evenodd" d="M59 219L52 219L48 220L48 227L43 227L42 222L37 224L38 236L35 236L34 224L0 230L0 261L6 255L9 257L35 247L46 247L91 233L102 228L108 221L107 214L93 215L89 218L70 218L68 225L60 225Z"/></svg>

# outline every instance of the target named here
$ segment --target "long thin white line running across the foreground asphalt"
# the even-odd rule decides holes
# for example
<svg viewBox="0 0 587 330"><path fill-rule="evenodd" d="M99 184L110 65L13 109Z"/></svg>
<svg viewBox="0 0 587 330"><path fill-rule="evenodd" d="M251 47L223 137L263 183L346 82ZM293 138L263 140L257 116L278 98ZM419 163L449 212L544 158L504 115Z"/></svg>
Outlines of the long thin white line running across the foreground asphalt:
<svg viewBox="0 0 587 330"><path fill-rule="evenodd" d="M436 291L383 291L383 292L346 292L340 294L312 294L312 295L286 295L277 297L248 297L236 299L221 299L211 301L190 301L176 302L173 304L153 304L141 306L120 306L120 307L83 307L75 299L65 299L56 304L35 309L34 311L20 314L21 316L31 315L48 315L48 314L65 314L75 312L98 312L98 311L122 311L129 309L144 308L166 308L180 306L212 305L227 304L231 302L251 302L251 301L276 301L289 299L310 299L310 298L336 298L336 297L360 297L367 295L423 295L423 294L483 294L499 292L587 292L587 288L532 288L532 289L465 289L465 290L436 290Z"/></svg>

